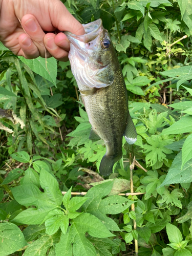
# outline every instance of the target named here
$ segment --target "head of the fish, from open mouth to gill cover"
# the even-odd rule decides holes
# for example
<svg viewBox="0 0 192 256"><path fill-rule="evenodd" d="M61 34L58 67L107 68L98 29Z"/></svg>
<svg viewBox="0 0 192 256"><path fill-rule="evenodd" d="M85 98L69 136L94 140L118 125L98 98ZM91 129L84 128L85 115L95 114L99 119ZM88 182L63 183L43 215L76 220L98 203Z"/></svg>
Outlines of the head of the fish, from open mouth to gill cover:
<svg viewBox="0 0 192 256"><path fill-rule="evenodd" d="M119 62L110 35L102 20L83 25L84 35L65 32L71 42L69 59L77 84L90 88L110 86Z"/></svg>

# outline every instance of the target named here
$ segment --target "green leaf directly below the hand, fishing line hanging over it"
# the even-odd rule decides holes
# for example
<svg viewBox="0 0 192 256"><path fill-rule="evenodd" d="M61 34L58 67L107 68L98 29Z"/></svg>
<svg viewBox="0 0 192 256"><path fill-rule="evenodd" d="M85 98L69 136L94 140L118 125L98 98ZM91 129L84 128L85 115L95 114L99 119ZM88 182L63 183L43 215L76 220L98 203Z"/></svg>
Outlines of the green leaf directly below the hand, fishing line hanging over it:
<svg viewBox="0 0 192 256"><path fill-rule="evenodd" d="M24 57L19 57L33 72L46 78L56 86L56 76L57 76L57 61L55 58L46 59L38 57L36 59L26 59Z"/></svg>

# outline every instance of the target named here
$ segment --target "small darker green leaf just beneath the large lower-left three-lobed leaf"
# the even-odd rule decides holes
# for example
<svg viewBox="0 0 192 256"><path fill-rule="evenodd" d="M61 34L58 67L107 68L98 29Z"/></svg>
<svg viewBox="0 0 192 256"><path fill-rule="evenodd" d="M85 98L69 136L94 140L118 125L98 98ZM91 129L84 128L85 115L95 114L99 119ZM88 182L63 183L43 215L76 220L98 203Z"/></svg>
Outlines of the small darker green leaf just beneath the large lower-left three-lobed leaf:
<svg viewBox="0 0 192 256"><path fill-rule="evenodd" d="M39 234L44 234L46 231L46 227L45 225L30 225L28 227L26 227L23 231L25 240L27 242L33 241L35 240Z"/></svg>

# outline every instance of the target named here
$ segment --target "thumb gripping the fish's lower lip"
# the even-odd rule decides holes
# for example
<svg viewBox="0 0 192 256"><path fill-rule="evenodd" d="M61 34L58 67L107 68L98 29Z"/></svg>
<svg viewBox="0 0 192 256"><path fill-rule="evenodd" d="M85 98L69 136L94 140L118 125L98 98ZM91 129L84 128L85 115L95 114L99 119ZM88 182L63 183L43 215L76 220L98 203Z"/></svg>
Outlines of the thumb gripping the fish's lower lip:
<svg viewBox="0 0 192 256"><path fill-rule="evenodd" d="M61 1L52 1L49 13L52 25L60 31L69 31L75 35L83 35L84 28L68 11Z"/></svg>

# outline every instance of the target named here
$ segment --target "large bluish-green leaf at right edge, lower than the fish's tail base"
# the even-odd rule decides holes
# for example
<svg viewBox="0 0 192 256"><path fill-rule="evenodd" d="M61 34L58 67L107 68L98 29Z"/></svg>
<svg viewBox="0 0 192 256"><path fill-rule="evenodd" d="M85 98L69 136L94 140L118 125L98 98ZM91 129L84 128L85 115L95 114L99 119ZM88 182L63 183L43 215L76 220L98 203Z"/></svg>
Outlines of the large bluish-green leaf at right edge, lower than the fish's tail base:
<svg viewBox="0 0 192 256"><path fill-rule="evenodd" d="M175 183L185 183L185 182L192 182L192 160L189 160L187 163L184 164L181 170L181 163L182 163L182 153L180 152L174 159L172 166L168 170L168 174L166 175L165 180L159 186L165 186L169 184Z"/></svg>

